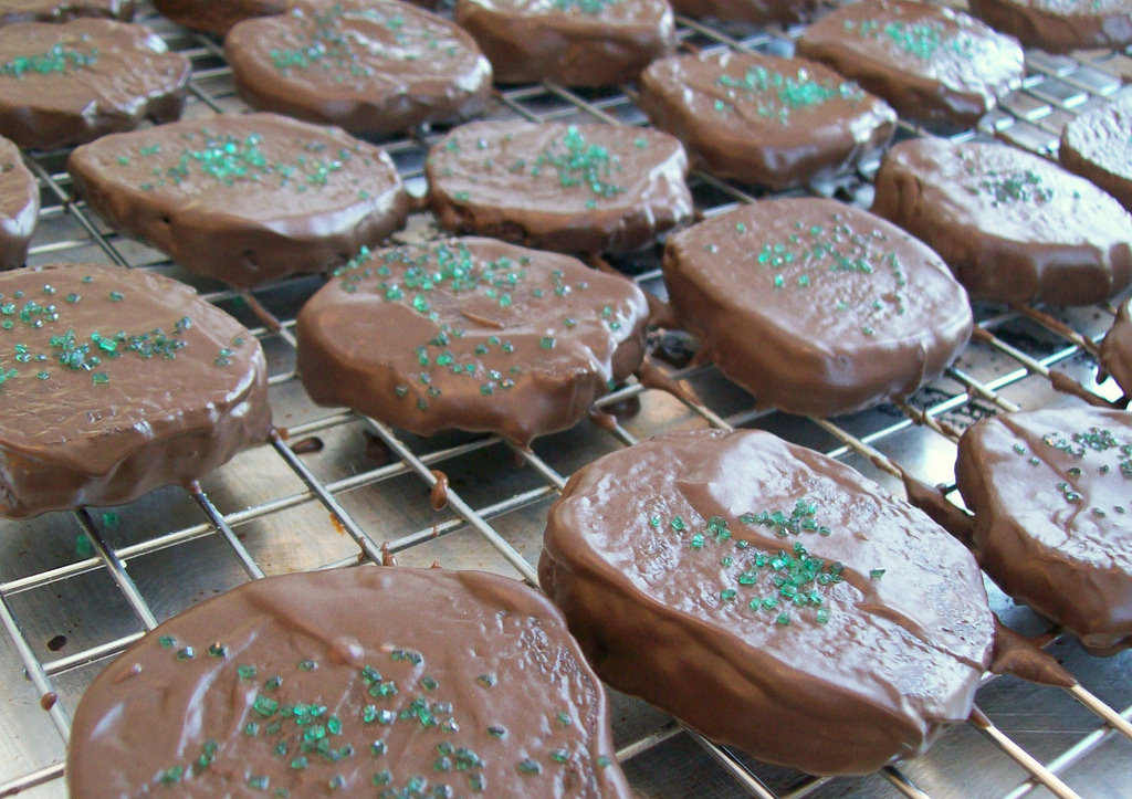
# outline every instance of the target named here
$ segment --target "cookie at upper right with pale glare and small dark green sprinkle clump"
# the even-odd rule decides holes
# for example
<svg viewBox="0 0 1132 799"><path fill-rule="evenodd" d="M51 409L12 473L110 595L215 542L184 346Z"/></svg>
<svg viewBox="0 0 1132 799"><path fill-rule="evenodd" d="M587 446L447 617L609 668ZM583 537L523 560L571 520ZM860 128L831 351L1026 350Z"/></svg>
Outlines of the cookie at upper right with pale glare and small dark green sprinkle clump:
<svg viewBox="0 0 1132 799"><path fill-rule="evenodd" d="M1082 306L1132 283L1132 215L1015 147L902 141L873 212L934 248L976 299Z"/></svg>

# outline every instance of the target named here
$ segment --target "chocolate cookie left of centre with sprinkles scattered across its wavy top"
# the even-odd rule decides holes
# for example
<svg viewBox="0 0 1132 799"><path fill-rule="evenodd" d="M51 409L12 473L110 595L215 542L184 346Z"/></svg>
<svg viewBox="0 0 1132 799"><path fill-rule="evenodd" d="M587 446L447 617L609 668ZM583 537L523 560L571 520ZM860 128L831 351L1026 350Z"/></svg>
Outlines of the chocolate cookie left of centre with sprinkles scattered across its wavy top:
<svg viewBox="0 0 1132 799"><path fill-rule="evenodd" d="M648 316L624 277L449 239L341 269L299 313L298 370L321 405L422 436L456 428L526 445L573 427L640 366Z"/></svg>

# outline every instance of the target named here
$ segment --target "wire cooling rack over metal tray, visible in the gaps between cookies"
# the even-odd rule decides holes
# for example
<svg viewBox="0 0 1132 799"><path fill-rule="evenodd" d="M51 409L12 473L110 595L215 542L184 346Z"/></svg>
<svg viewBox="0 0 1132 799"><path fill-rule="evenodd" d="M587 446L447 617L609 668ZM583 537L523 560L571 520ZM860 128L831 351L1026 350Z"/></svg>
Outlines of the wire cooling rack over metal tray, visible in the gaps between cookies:
<svg viewBox="0 0 1132 799"><path fill-rule="evenodd" d="M238 113L230 69L215 41L143 15L194 62L186 115ZM751 49L789 54L797 29L753 31L679 18L685 50ZM1061 127L1082 110L1132 91L1130 52L1032 52L1022 86L977 130L1052 156ZM492 117L642 124L632 89L573 92L546 83L497 92ZM898 137L938 135L901 122ZM423 158L438 134L380 141L411 189L423 191ZM899 493L900 469L954 491L951 464L962 429L997 411L1071 402L1058 380L1108 398L1095 383L1096 342L1114 307L1052 312L980 307L978 329L945 376L897 405L834 421L772 413L711 366L674 367L679 396L631 380L598 403L598 423L549 436L533 449L495 436L420 439L344 410L314 406L294 375L294 313L321 278L300 277L237 292L204 282L118 235L71 195L67 152L32 154L43 209L29 263L110 261L171 274L254 328L268 356L278 426L271 439L188 489L166 488L123 508L84 508L0 524L0 797L58 796L70 711L105 661L160 620L205 596L265 574L362 561L486 568L534 584L546 508L573 470L663 430L757 426L841 458ZM868 206L876 164L789 194ZM691 179L703 216L762 196L703 173ZM429 235L417 215L403 237ZM659 247L615 266L663 295ZM667 334L660 352L686 342ZM672 360L671 358L669 360ZM1060 377L1064 376L1064 377ZM899 465L898 465L899 464ZM444 470L443 512L428 490ZM405 533L406 530L414 531ZM1086 655L1074 642L1013 605L988 582L992 605L1014 627L1044 635L1075 675L1072 689L987 676L969 724L949 730L925 756L861 777L814 777L717 746L643 703L612 694L618 759L643 796L760 797L1056 796L1132 792L1132 659ZM26 679L20 679L26 678ZM1089 688L1086 689L1084 686ZM1122 711L1115 707L1123 707ZM774 723L766 720L758 723Z"/></svg>

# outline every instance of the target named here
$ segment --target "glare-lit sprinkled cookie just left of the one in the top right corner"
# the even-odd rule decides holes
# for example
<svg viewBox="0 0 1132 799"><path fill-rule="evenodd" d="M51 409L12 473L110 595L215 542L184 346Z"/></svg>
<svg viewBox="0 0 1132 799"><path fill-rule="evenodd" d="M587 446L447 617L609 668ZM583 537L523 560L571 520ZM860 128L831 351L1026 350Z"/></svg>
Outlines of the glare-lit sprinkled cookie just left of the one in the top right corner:
<svg viewBox="0 0 1132 799"><path fill-rule="evenodd" d="M822 17L798 54L824 61L901 117L970 126L1020 84L1022 49L977 19L929 3L863 0Z"/></svg>

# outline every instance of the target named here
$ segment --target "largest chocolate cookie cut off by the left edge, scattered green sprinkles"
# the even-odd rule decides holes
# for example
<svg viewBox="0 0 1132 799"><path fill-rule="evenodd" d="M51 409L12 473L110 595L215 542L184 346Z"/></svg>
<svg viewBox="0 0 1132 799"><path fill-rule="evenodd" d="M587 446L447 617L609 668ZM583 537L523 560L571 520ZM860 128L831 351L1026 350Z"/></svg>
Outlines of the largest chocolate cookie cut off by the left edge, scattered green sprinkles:
<svg viewBox="0 0 1132 799"><path fill-rule="evenodd" d="M259 343L188 286L55 265L0 293L0 516L128 502L266 437Z"/></svg>

